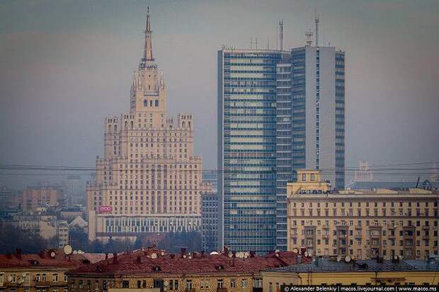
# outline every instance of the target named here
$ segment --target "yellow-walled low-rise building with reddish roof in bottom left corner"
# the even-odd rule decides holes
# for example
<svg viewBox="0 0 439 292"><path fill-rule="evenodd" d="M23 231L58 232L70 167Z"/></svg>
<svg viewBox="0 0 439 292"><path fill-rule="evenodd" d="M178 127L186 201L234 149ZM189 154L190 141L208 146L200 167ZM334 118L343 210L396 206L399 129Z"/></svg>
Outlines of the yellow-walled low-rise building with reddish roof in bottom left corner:
<svg viewBox="0 0 439 292"><path fill-rule="evenodd" d="M67 292L67 271L103 259L103 255L65 255L62 250L0 255L0 292Z"/></svg>

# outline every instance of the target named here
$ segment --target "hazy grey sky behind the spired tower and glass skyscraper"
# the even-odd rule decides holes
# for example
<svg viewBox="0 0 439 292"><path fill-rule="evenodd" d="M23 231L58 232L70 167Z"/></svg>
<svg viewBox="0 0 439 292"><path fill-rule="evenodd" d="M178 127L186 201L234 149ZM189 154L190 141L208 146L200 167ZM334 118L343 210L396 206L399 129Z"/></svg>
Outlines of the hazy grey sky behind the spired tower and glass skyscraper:
<svg viewBox="0 0 439 292"><path fill-rule="evenodd" d="M205 169L217 165L217 49L249 48L250 37L274 48L281 18L284 48L302 46L314 7L320 42L346 51L346 166L439 158L437 0L3 0L0 164L94 165L104 117L129 109L147 6L169 112L194 114Z"/></svg>

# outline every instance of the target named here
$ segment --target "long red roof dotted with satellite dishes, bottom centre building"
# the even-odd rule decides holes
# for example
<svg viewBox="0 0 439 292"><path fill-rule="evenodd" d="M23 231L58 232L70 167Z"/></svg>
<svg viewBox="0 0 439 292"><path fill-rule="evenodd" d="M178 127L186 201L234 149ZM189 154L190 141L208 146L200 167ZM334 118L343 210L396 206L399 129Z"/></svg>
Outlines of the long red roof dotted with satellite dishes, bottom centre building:
<svg viewBox="0 0 439 292"><path fill-rule="evenodd" d="M163 253L163 255L161 255ZM153 255L155 254L155 255ZM86 267L70 271L74 274L212 274L212 273L258 273L262 269L285 267L295 264L297 255L293 252L272 252L265 256L248 258L228 255L169 254L163 250L137 250L118 255L116 260L107 259Z"/></svg>

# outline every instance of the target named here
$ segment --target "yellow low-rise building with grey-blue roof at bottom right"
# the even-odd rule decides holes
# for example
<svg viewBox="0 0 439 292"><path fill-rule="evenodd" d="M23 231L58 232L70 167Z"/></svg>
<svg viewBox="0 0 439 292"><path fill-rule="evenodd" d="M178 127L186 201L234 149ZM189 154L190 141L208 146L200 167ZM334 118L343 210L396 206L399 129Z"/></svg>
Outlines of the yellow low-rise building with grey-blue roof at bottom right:
<svg viewBox="0 0 439 292"><path fill-rule="evenodd" d="M437 285L438 259L364 260L314 258L307 264L262 271L263 291L283 285Z"/></svg>

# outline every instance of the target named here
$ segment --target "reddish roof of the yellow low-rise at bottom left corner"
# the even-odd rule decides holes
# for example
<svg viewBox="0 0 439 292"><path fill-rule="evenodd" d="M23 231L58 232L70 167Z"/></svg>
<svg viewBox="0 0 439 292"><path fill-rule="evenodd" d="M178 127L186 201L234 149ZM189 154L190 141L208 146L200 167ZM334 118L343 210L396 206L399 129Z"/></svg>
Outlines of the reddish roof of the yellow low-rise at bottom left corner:
<svg viewBox="0 0 439 292"><path fill-rule="evenodd" d="M50 257L54 251L55 257ZM65 255L62 250L42 250L38 254L21 255L15 252L8 255L0 255L0 268L24 268L24 267L81 267L101 260L105 255L79 254Z"/></svg>

